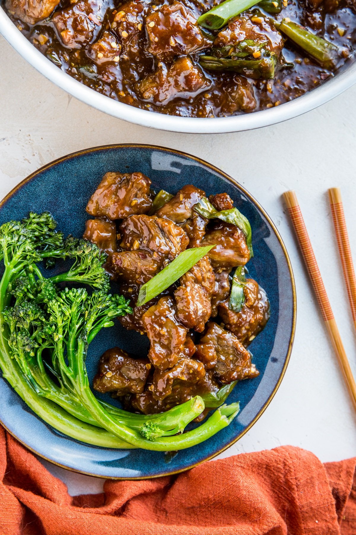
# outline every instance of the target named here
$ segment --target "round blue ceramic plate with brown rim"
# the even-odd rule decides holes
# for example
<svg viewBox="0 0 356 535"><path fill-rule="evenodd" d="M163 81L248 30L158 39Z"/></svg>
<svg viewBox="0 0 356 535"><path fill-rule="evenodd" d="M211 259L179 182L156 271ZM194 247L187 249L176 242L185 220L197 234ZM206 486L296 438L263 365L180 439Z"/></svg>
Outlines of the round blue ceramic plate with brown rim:
<svg viewBox="0 0 356 535"><path fill-rule="evenodd" d="M271 319L250 346L260 375L242 381L230 394L227 401L240 401L241 411L228 427L176 456L140 449L100 448L70 439L38 418L2 378L0 421L31 451L70 470L106 478L163 476L187 470L223 452L250 429L270 403L286 371L294 337L294 279L280 235L244 188L199 158L160 147L116 145L60 158L31 174L4 198L0 203L0 224L21 219L30 210L50 210L61 231L80 237L88 218L86 203L107 171L143 172L156 190L163 188L172 193L185 184L194 184L207 194L227 192L248 217L255 253L248 264L249 273L265 288L271 302ZM148 342L146 337L125 331L120 325L103 329L90 345L86 362L90 381L100 355L113 346L147 355Z"/></svg>

